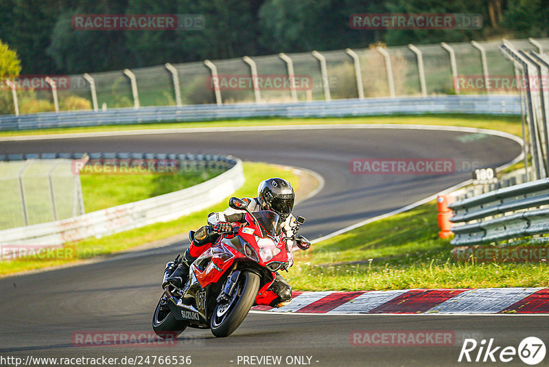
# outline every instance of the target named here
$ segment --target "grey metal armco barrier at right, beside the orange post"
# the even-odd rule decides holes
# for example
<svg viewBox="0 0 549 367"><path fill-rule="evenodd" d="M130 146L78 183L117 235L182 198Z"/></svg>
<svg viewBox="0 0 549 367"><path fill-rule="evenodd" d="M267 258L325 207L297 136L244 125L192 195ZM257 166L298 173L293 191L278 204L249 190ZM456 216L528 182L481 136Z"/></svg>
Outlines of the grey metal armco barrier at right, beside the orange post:
<svg viewBox="0 0 549 367"><path fill-rule="evenodd" d="M492 243L549 233L549 179L500 188L448 205L454 212L452 245ZM541 207L541 208L540 208ZM518 210L525 210L517 212Z"/></svg>

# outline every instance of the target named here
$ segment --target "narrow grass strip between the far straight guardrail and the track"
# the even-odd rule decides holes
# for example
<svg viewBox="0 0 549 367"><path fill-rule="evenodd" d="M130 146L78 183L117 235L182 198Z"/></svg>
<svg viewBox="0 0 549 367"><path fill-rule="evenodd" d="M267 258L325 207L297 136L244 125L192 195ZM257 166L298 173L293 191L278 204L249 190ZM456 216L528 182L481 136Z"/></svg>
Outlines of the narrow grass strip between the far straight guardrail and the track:
<svg viewBox="0 0 549 367"><path fill-rule="evenodd" d="M294 124L424 124L444 126L465 126L480 129L506 131L521 136L519 116L465 115L465 114L425 114L425 115L384 115L353 118L265 118L250 120L224 120L209 122L173 122L161 124L129 124L110 126L87 126L64 129L43 129L36 131L2 131L0 137L20 135L47 135L60 133L89 133L96 131L126 131L136 129L175 129L219 126L257 126Z"/></svg>

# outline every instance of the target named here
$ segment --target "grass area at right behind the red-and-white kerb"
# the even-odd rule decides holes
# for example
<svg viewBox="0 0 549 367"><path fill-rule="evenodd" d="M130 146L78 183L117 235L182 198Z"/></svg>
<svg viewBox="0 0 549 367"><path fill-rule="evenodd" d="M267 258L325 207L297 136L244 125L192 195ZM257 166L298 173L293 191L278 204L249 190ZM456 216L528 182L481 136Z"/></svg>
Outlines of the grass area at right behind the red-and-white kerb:
<svg viewBox="0 0 549 367"><path fill-rule="evenodd" d="M436 203L312 245L286 278L294 289L546 287L546 263L458 263L438 237Z"/></svg>

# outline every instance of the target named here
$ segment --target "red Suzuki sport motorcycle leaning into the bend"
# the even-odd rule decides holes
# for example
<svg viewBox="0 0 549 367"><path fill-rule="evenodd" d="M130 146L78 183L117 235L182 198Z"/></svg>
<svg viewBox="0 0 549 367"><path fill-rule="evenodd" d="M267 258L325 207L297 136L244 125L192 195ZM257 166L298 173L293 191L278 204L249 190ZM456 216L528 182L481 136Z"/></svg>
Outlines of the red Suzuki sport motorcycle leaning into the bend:
<svg viewBox="0 0 549 367"><path fill-rule="evenodd" d="M283 235L280 216L268 210L250 212L246 203L231 198L229 206L245 210L244 225L220 234L215 244L200 255L189 269L189 277L181 289L166 285L154 310L152 329L160 337L176 337L187 328L211 329L216 337L226 337L237 329L253 304L264 304L259 296L275 278L275 271L288 271L292 266L292 240L300 249L311 243L296 236L305 223L298 216L294 236ZM191 241L194 232L189 233ZM288 258L290 253L290 258ZM174 269L180 256L167 267ZM169 276L165 272L164 277Z"/></svg>

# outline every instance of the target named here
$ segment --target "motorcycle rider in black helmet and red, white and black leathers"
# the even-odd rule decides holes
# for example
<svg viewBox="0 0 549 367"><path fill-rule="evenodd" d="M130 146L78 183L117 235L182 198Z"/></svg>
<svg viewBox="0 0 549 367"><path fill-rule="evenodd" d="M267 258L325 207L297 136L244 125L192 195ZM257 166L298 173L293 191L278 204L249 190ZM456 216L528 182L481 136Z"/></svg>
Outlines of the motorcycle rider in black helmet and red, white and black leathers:
<svg viewBox="0 0 549 367"><path fill-rule="evenodd" d="M259 183L257 197L244 198L242 200L246 201L250 212L272 210L279 214L283 221L282 229L285 232L285 236L293 236L292 225L295 224L295 218L292 215L292 208L294 208L294 197L294 189L288 181L271 178ZM172 275L166 279L166 282L178 288L182 287L189 274L189 267L194 263L194 260L215 243L221 232L232 230L233 225L231 223L242 223L245 214L245 210L235 210L233 208L209 214L208 223L213 227L213 231L209 229L209 226L204 226L197 230L194 236L191 236L194 238L187 251L185 251L182 262ZM290 252L293 245L293 241L288 241ZM293 259L291 253L288 255L288 258ZM292 266L292 260L290 260L290 266ZM165 284L163 287L165 287ZM270 285L267 291L260 294L258 299L261 299L262 304L269 304L271 307L281 307L284 304L288 304L292 299L292 286L277 272L272 285Z"/></svg>

